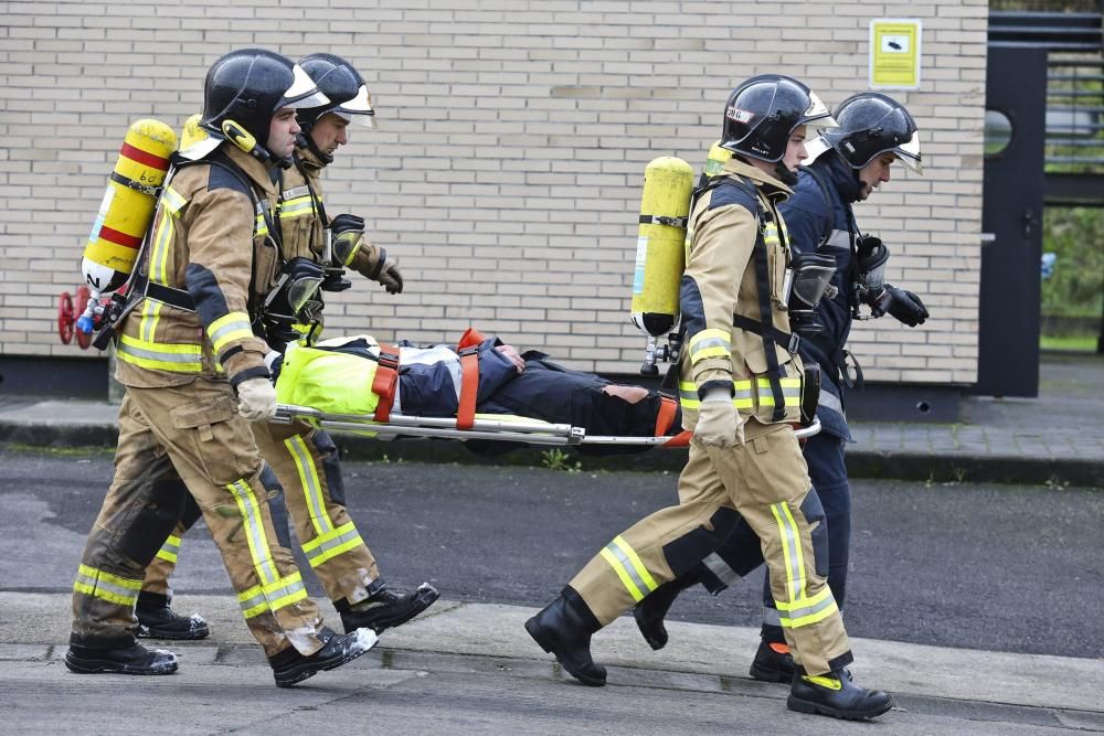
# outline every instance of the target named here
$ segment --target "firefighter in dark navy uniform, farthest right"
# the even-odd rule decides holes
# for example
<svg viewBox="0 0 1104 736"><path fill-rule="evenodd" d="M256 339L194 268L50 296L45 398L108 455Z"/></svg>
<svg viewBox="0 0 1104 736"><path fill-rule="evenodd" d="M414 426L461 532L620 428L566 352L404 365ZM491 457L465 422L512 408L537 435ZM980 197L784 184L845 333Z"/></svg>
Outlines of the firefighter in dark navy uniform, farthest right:
<svg viewBox="0 0 1104 736"><path fill-rule="evenodd" d="M894 162L922 173L916 122L900 103L870 92L846 99L835 118L839 127L826 130L807 147L809 158L782 213L795 250L827 254L836 262L836 295L822 300L816 311L822 329L804 339L799 352L806 364L820 366L816 413L821 430L806 442L804 455L828 526L828 587L842 609L851 531L851 490L843 450L853 441L843 412L845 391L852 383L843 348L862 306L869 307L873 317L889 313L909 327L923 324L928 312L915 294L884 282L889 249L880 238L859 231L851 210L853 203L866 201L890 180ZM637 605L634 615L641 633L652 648L661 649L667 643L664 617L681 589L700 582L711 593L720 593L757 567L761 558L754 533L740 524L702 565ZM794 678L794 658L783 637L769 580L764 589L762 640L751 675L786 683Z"/></svg>

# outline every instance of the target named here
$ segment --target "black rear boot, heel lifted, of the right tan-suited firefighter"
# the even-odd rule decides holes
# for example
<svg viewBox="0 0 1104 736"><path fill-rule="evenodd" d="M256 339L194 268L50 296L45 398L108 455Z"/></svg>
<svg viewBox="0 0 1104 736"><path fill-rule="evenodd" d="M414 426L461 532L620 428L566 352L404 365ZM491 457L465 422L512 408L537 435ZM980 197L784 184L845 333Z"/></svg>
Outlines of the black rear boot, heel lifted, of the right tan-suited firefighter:
<svg viewBox="0 0 1104 736"><path fill-rule="evenodd" d="M606 684L606 669L591 658L591 634L601 628L591 609L570 587L526 621L526 631L541 649L554 654L575 680L595 687Z"/></svg>

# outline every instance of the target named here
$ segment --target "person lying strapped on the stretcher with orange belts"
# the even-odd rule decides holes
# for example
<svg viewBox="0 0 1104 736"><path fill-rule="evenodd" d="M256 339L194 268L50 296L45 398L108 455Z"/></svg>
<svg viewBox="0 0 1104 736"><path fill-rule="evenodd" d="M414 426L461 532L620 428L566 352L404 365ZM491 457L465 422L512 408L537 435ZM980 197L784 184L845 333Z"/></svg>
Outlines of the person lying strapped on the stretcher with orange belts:
<svg viewBox="0 0 1104 736"><path fill-rule="evenodd" d="M382 422L391 413L463 419L465 413L476 412L570 424L588 435L654 437L682 429L678 403L658 392L565 369L535 350L519 353L475 330L456 346L400 343L397 365L389 360L395 351L381 349L371 335L323 340L310 348L293 344L278 369L277 399L328 414L373 415ZM588 449L608 454L646 448Z"/></svg>

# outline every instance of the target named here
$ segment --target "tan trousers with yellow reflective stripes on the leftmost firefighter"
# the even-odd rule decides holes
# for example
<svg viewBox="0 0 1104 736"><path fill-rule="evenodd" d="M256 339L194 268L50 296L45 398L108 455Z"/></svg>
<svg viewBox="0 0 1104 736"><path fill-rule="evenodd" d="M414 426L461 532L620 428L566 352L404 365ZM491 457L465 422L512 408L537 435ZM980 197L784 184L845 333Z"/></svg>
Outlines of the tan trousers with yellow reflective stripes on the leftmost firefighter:
<svg viewBox="0 0 1104 736"><path fill-rule="evenodd" d="M268 509L276 490L261 481L264 463L236 404L222 381L128 387L119 408L115 481L74 584L72 643L123 648L135 642L134 608L146 566L183 508L183 499L164 495L167 483L159 481L179 473L265 653L272 657L288 646L304 655L321 649L318 607L307 597L290 551L277 542ZM162 505L173 504L174 515L157 516ZM157 537L149 538L151 533Z"/></svg>

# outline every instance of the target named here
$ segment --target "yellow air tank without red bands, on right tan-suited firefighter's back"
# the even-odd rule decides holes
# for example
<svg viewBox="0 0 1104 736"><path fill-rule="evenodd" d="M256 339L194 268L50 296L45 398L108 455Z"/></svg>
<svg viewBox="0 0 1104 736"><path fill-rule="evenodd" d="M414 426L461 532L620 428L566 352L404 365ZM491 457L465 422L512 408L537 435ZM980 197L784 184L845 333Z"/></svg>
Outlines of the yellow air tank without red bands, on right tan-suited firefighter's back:
<svg viewBox="0 0 1104 736"><path fill-rule="evenodd" d="M679 282L686 265L683 242L692 191L693 169L682 159L664 156L644 170L631 318L650 337L666 334L679 318Z"/></svg>

